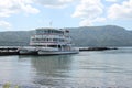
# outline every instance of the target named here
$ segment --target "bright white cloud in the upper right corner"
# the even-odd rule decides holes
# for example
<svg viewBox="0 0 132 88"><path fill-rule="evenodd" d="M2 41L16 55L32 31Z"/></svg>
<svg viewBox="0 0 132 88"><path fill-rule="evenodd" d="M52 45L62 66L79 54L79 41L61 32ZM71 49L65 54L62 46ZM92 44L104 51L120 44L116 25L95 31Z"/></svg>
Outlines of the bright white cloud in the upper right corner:
<svg viewBox="0 0 132 88"><path fill-rule="evenodd" d="M123 1L121 4L114 3L108 10L108 18L112 20L132 19L132 0Z"/></svg>

